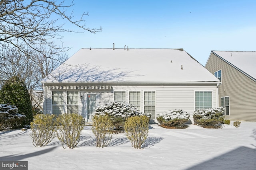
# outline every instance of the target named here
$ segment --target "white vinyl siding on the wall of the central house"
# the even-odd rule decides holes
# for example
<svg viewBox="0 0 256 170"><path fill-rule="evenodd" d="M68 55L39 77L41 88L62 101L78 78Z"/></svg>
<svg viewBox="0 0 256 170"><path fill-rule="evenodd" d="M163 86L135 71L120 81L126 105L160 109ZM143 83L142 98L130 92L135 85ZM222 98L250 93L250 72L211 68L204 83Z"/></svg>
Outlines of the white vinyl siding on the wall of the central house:
<svg viewBox="0 0 256 170"><path fill-rule="evenodd" d="M130 92L140 92L140 111L143 113L155 111L156 113L162 113L171 109L183 109L184 111L190 113L190 120L193 121L193 113L195 111L195 91L206 91L212 92L212 107L218 107L218 96L216 84L214 85L113 85L111 90L90 90L84 91L80 90L78 92L78 97L83 96L79 101L79 111L83 117L87 119L87 99L86 96L89 93L95 92L97 94L97 106L104 105L109 101L114 101L114 92L124 92L126 96L126 102L129 102ZM144 92L155 92L155 104L153 107L144 104ZM64 94L67 92L64 91ZM64 95L64 101L66 101L67 95ZM122 95L124 96L124 95ZM66 110L67 104L64 102L64 109ZM51 113L52 111L52 90L46 90L46 109L45 113Z"/></svg>

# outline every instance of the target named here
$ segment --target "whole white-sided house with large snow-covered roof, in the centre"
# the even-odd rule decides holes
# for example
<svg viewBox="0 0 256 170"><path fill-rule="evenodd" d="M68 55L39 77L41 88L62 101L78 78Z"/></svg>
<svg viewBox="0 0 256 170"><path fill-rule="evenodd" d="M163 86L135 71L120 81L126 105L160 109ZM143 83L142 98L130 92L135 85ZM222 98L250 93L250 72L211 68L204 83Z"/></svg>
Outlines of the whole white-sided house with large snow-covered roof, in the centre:
<svg viewBox="0 0 256 170"><path fill-rule="evenodd" d="M183 49L80 49L42 80L44 113L79 113L133 104L144 113L218 107L220 81ZM191 119L193 121L193 119Z"/></svg>

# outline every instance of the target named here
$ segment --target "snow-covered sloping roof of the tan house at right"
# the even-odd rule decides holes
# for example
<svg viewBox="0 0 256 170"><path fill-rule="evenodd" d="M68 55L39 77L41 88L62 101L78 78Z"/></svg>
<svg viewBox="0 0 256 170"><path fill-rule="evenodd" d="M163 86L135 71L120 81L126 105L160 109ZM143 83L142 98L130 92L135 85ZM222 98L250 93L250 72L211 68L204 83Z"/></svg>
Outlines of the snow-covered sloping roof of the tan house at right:
<svg viewBox="0 0 256 170"><path fill-rule="evenodd" d="M256 51L212 51L232 65L234 68L243 72L256 81Z"/></svg>

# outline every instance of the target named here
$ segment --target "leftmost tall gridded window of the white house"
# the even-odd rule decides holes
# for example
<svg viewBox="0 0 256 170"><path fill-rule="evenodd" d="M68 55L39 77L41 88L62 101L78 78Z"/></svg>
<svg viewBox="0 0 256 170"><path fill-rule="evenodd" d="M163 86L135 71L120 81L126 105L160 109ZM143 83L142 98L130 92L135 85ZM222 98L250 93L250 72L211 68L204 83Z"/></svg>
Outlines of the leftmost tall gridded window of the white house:
<svg viewBox="0 0 256 170"><path fill-rule="evenodd" d="M63 92L57 91L52 92L52 113L60 115L64 113L63 107Z"/></svg>

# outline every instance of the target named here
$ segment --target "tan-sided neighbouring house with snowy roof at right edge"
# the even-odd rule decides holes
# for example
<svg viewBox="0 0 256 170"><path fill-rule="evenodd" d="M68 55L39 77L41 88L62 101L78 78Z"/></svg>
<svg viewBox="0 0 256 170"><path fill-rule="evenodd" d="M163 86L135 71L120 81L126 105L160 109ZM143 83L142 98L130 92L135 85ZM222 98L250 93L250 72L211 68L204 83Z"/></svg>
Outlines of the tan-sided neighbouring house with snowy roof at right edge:
<svg viewBox="0 0 256 170"><path fill-rule="evenodd" d="M205 68L221 81L225 118L256 121L256 51L212 51Z"/></svg>

